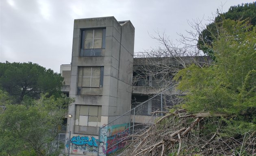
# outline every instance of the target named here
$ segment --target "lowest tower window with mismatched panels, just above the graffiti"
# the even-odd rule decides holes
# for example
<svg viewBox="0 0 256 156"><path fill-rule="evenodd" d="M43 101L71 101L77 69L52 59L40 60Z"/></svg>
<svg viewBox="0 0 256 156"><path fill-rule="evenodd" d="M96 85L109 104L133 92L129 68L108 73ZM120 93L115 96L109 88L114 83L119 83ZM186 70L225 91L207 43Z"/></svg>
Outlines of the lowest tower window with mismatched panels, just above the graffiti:
<svg viewBox="0 0 256 156"><path fill-rule="evenodd" d="M76 105L75 125L100 127L101 106Z"/></svg>

